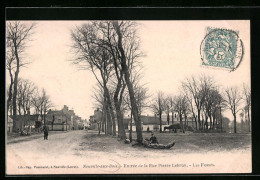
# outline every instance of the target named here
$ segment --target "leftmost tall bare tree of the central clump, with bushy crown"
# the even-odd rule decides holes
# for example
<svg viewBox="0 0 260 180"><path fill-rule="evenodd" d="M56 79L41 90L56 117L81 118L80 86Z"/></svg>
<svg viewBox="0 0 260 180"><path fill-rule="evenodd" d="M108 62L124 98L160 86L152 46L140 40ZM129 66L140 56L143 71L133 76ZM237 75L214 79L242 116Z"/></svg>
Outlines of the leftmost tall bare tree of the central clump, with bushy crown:
<svg viewBox="0 0 260 180"><path fill-rule="evenodd" d="M84 24L81 27L76 27L71 31L73 40L73 49L75 50L76 58L73 62L81 69L92 71L99 85L104 89L104 96L106 104L112 116L112 123L110 118L107 122L107 133L116 135L115 115L110 98L110 92L107 87L108 79L113 70L112 57L110 53L100 46L99 41L102 39L102 34L93 24Z"/></svg>

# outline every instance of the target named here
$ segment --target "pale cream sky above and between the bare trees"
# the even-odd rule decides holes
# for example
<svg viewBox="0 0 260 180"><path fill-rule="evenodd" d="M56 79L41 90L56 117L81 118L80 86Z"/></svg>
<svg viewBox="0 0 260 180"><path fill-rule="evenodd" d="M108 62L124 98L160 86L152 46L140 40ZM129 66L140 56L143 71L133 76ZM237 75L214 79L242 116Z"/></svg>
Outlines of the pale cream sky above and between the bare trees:
<svg viewBox="0 0 260 180"><path fill-rule="evenodd" d="M90 71L79 71L70 60L74 58L70 31L87 21L33 21L37 23L32 41L26 49L26 60L32 61L21 69L20 77L45 88L53 109L67 105L84 119L94 112L93 87ZM23 23L32 23L26 21ZM163 91L176 95L181 81L201 73L214 77L221 87L250 85L250 21L138 21L141 39L143 78L149 94ZM238 31L244 44L241 65L234 72L201 66L200 45L206 27ZM7 84L9 77L7 74ZM147 111L146 113L151 113ZM152 115L152 114L151 114ZM226 116L232 117L229 112Z"/></svg>

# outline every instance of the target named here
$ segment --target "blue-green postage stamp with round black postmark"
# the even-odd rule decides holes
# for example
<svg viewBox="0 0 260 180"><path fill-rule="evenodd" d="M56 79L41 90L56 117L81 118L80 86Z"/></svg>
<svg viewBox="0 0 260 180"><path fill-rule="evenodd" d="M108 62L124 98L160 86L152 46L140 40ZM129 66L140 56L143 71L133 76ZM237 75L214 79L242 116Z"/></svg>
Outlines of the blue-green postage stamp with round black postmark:
<svg viewBox="0 0 260 180"><path fill-rule="evenodd" d="M207 27L200 54L202 66L234 71L242 61L244 50L239 32Z"/></svg>

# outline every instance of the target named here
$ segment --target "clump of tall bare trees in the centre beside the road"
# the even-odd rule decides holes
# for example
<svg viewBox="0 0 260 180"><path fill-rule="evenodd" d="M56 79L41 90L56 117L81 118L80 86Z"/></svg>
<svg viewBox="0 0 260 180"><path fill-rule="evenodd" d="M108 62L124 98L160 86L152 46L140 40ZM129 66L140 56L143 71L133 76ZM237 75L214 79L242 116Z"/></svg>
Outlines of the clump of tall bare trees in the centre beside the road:
<svg viewBox="0 0 260 180"><path fill-rule="evenodd" d="M142 143L140 109L135 95L135 76L138 72L139 49L137 24L132 21L94 21L77 26L71 31L75 58L73 63L80 69L93 72L101 88L103 122L105 132L126 138L123 125L123 99L127 92L131 114L134 117L137 142Z"/></svg>

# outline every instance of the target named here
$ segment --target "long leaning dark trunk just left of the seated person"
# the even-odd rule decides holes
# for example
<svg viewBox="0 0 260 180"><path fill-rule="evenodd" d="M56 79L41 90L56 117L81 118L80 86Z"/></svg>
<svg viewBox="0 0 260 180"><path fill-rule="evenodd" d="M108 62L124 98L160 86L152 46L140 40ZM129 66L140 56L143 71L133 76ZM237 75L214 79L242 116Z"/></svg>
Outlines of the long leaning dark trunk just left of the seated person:
<svg viewBox="0 0 260 180"><path fill-rule="evenodd" d="M130 96L130 101L131 101L131 107L132 107L132 111L133 111L133 116L134 116L134 121L135 121L135 125L136 125L136 133L137 133L137 142L142 144L143 142L143 136L142 136L142 128L141 128L141 119L138 113L138 107L136 104L136 99L134 97L134 89L133 89L133 84L130 81L130 74L129 74L129 70L126 64L126 57L125 57L125 52L122 46L122 34L121 34L121 30L120 27L118 25L118 21L114 21L114 26L115 26L115 30L118 36L118 48L121 54L121 67L122 67L122 71L124 73L124 77L125 77L125 82L126 85L128 87L128 91L129 91L129 96Z"/></svg>

